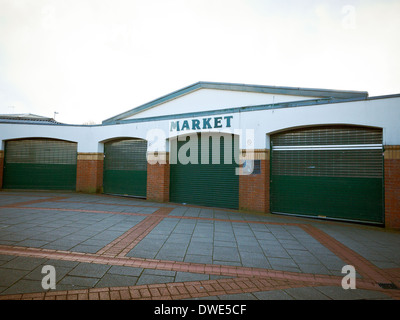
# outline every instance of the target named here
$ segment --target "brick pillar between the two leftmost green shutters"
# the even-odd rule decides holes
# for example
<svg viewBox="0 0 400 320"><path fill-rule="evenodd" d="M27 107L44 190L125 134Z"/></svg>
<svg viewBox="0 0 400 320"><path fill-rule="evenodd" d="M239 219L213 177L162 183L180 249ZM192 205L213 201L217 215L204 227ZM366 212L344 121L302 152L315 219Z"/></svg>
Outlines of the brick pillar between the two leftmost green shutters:
<svg viewBox="0 0 400 320"><path fill-rule="evenodd" d="M103 187L103 153L78 153L76 191L100 193Z"/></svg>

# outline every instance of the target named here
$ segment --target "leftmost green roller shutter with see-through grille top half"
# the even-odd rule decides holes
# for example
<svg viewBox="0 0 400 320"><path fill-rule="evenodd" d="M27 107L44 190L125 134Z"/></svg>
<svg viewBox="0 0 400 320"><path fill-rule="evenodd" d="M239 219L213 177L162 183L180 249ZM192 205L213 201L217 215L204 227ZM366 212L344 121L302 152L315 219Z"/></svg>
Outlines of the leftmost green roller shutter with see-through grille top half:
<svg viewBox="0 0 400 320"><path fill-rule="evenodd" d="M5 189L76 189L77 144L51 139L6 141Z"/></svg>

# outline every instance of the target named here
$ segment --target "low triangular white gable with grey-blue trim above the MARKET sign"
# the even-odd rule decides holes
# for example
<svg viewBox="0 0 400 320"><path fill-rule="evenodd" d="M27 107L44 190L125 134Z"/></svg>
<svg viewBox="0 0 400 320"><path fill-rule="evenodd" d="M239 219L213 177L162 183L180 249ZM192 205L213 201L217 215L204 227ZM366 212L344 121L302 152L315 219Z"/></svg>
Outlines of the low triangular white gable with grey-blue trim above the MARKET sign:
<svg viewBox="0 0 400 320"><path fill-rule="evenodd" d="M103 121L151 118L227 108L279 104L321 98L366 98L364 91L339 91L294 87L198 82Z"/></svg>

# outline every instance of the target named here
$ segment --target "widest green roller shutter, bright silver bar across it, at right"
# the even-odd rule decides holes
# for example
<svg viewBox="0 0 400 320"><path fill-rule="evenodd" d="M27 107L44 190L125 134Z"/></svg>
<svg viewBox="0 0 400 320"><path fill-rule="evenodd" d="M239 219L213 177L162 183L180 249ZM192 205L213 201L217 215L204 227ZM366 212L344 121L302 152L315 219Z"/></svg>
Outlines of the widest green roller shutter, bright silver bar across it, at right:
<svg viewBox="0 0 400 320"><path fill-rule="evenodd" d="M382 224L382 131L298 129L271 136L271 211Z"/></svg>

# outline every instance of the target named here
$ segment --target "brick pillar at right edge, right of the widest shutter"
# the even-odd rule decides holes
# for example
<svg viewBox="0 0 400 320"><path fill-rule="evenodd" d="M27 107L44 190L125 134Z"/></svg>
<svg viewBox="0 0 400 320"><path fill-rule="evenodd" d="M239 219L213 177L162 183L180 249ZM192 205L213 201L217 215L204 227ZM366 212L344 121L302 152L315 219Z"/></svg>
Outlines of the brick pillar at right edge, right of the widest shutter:
<svg viewBox="0 0 400 320"><path fill-rule="evenodd" d="M400 146L385 146L385 226L400 229Z"/></svg>

